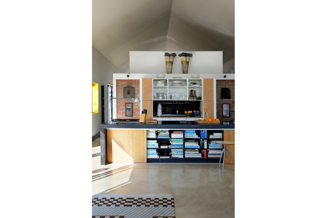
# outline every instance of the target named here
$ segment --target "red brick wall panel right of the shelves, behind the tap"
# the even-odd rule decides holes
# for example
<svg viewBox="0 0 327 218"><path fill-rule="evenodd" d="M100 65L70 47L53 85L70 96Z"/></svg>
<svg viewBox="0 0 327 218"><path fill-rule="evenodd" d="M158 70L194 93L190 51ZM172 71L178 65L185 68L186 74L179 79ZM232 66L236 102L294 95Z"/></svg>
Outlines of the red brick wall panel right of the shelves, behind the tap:
<svg viewBox="0 0 327 218"><path fill-rule="evenodd" d="M229 88L231 90L231 99L221 99L220 90L222 88ZM222 104L229 104L229 109L235 111L235 80L216 80L216 108L217 118L219 120L230 120L233 118L233 113L230 113L230 117L222 117Z"/></svg>

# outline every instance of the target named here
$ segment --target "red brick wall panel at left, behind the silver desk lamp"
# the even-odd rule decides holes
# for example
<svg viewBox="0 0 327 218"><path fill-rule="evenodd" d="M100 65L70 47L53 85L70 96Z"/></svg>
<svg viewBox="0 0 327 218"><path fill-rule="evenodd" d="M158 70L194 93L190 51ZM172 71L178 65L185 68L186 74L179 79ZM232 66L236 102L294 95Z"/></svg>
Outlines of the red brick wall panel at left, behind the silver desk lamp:
<svg viewBox="0 0 327 218"><path fill-rule="evenodd" d="M123 98L124 87L134 87L134 98L140 98L140 80L139 79L116 79L116 97ZM124 99L116 99L117 119L140 119L140 103ZM133 116L125 117L125 103L133 104Z"/></svg>

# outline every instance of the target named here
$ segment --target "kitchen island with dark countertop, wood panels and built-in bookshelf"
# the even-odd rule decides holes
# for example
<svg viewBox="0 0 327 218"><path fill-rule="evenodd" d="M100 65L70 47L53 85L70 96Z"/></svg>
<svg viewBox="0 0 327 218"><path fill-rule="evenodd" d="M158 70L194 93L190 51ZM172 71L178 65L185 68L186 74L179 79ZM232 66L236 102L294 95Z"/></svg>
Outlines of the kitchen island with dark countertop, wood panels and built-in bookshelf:
<svg viewBox="0 0 327 218"><path fill-rule="evenodd" d="M107 121L100 125L101 165L111 162L219 162L219 158L147 159L147 140L169 140L171 138L147 138L146 130L169 130L169 133L178 130L195 130L199 133L201 130L207 130L208 134L213 131L222 133L221 140L234 141L234 128L233 122L222 121L220 124L198 124L195 121L158 121L158 123L144 124ZM181 138L187 139L185 136ZM206 139L209 140L209 137ZM234 156L234 145L229 145L228 148ZM160 149L164 148L158 148L158 150ZM225 163L229 163L229 161L231 160L226 157Z"/></svg>

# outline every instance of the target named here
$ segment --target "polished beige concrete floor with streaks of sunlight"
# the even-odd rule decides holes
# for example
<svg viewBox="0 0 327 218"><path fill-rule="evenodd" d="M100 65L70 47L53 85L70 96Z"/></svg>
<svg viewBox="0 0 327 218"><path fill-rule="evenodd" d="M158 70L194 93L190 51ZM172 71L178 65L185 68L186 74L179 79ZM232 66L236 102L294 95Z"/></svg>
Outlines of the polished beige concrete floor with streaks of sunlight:
<svg viewBox="0 0 327 218"><path fill-rule="evenodd" d="M177 218L234 217L234 167L197 163L100 165L92 142L92 193L173 194Z"/></svg>

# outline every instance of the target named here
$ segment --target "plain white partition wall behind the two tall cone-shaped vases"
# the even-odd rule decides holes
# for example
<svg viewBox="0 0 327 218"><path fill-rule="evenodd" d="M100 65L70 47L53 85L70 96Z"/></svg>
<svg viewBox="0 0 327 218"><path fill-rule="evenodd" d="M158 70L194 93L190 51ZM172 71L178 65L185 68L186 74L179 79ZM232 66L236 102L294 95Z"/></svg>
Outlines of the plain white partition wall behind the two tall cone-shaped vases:
<svg viewBox="0 0 327 218"><path fill-rule="evenodd" d="M192 53L188 67L188 74L222 74L222 51L130 51L129 72L131 74L166 74L164 53L176 53L172 74L182 74L182 52Z"/></svg>

